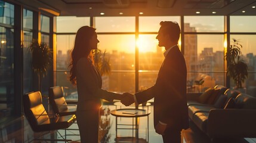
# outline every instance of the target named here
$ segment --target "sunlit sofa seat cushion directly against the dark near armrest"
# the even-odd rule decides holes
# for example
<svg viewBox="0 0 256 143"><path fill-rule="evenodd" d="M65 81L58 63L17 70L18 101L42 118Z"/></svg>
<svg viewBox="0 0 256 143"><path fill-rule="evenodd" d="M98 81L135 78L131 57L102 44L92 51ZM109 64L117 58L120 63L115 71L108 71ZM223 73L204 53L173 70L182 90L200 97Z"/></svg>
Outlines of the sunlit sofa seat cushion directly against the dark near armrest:
<svg viewBox="0 0 256 143"><path fill-rule="evenodd" d="M193 122L198 128L200 128L203 132L207 132L207 120L208 120L209 112L199 112L196 113L193 117Z"/></svg>

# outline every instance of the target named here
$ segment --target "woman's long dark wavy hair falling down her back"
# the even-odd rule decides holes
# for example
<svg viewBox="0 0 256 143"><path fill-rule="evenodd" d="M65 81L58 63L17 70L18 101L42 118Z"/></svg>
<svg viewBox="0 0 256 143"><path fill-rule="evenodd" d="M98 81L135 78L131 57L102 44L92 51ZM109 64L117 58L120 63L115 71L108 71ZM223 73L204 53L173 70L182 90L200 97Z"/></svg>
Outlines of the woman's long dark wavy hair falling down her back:
<svg viewBox="0 0 256 143"><path fill-rule="evenodd" d="M75 45L70 52L70 77L69 80L73 85L76 85L76 63L82 57L92 56L89 42L94 35L95 30L93 27L83 26L78 29L75 38Z"/></svg>

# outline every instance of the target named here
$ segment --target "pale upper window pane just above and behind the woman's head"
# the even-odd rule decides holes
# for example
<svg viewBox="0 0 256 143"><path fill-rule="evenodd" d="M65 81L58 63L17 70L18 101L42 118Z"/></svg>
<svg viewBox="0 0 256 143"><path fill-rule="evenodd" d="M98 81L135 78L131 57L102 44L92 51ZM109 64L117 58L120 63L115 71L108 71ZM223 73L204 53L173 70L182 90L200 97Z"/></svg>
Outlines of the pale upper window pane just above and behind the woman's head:
<svg viewBox="0 0 256 143"><path fill-rule="evenodd" d="M56 18L57 33L76 33L82 26L90 26L90 17L64 17Z"/></svg>

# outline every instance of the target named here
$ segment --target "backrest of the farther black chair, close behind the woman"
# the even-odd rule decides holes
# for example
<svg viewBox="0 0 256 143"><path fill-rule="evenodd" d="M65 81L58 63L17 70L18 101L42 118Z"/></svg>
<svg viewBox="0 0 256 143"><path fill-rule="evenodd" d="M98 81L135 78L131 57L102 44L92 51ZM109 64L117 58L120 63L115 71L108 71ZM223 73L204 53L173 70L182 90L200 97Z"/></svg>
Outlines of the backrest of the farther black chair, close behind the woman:
<svg viewBox="0 0 256 143"><path fill-rule="evenodd" d="M63 96L63 87L54 86L49 88L49 101L54 113L67 110L67 102Z"/></svg>

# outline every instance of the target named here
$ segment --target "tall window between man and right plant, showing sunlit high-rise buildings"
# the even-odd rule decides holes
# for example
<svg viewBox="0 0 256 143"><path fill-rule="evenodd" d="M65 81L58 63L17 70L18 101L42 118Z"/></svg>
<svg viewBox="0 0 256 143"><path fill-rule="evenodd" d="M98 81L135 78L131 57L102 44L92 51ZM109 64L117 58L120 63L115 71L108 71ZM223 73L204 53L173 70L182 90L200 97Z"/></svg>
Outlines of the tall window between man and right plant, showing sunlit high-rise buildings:
<svg viewBox="0 0 256 143"><path fill-rule="evenodd" d="M223 16L184 16L184 57L187 92L225 85Z"/></svg>

